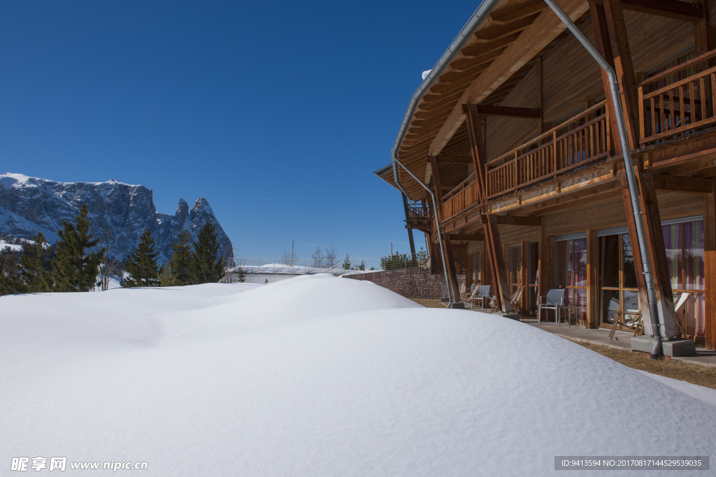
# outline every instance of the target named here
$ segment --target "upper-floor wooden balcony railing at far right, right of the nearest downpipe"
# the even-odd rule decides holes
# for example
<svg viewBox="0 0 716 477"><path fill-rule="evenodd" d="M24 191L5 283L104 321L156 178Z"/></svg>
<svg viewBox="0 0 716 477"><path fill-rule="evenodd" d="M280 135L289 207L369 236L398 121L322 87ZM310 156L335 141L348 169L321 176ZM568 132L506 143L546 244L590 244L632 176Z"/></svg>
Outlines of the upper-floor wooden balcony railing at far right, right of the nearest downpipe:
<svg viewBox="0 0 716 477"><path fill-rule="evenodd" d="M667 139L716 122L716 50L639 84L640 142Z"/></svg>

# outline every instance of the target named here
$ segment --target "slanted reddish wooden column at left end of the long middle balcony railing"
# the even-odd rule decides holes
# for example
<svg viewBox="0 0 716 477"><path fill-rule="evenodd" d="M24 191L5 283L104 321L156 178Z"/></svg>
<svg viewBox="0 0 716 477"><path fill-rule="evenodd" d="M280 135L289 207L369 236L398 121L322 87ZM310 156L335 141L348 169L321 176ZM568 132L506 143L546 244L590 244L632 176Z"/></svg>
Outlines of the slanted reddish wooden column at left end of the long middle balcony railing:
<svg viewBox="0 0 716 477"><path fill-rule="evenodd" d="M475 183L478 190L478 201L485 203L485 137L483 136L483 119L480 118L477 107L468 104L463 105L463 111L468 122L468 135L470 137L470 153L473 156L475 167ZM500 230L495 217L490 214L489 209L484 209L483 224L485 227L485 250L490 263L492 274L493 292L497 305L503 313L512 309L510 302L510 288L507 284L507 267L500 241Z"/></svg>

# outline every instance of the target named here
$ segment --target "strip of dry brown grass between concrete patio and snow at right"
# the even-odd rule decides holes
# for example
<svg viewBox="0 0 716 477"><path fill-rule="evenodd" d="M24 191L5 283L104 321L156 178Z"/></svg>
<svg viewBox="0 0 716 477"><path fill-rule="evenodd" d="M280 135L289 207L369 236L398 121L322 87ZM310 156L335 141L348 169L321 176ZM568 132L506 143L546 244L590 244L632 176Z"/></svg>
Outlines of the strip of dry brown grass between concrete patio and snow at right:
<svg viewBox="0 0 716 477"><path fill-rule="evenodd" d="M576 341L575 343L589 348L592 351L596 351L596 353L611 358L629 368L686 381L687 383L697 384L705 388L716 389L716 368L712 366L695 365L679 360L652 360L648 355L632 353L630 350L617 350L609 348L609 346L586 343L586 341Z"/></svg>

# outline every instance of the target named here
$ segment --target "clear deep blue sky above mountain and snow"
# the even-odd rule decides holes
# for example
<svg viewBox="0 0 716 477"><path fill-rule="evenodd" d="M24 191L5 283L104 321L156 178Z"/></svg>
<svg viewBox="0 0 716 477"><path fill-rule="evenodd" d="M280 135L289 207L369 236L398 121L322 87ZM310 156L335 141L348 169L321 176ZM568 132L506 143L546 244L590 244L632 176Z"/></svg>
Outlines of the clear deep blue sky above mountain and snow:
<svg viewBox="0 0 716 477"><path fill-rule="evenodd" d="M206 197L241 257L405 252L372 172L479 3L2 2L0 173Z"/></svg>

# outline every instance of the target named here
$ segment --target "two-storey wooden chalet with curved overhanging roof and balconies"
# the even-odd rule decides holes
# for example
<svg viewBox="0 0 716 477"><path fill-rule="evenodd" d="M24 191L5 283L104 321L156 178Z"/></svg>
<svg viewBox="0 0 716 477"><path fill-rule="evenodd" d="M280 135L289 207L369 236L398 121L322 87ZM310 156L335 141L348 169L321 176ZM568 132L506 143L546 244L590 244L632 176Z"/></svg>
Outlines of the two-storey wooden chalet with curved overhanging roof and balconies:
<svg viewBox="0 0 716 477"><path fill-rule="evenodd" d="M616 72L659 315L678 323L670 335L716 349L716 0L557 4ZM543 0L480 8L376 174L401 190L406 227L425 232L453 297L465 275L505 311L536 313L564 288L588 328L615 310L649 322L608 77Z"/></svg>

